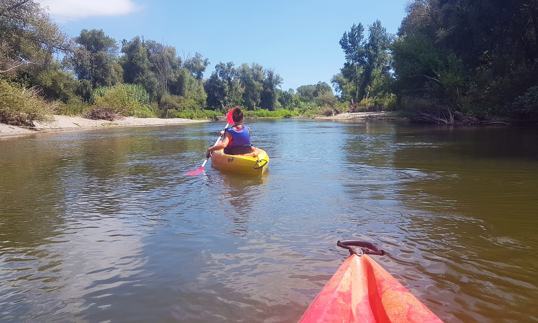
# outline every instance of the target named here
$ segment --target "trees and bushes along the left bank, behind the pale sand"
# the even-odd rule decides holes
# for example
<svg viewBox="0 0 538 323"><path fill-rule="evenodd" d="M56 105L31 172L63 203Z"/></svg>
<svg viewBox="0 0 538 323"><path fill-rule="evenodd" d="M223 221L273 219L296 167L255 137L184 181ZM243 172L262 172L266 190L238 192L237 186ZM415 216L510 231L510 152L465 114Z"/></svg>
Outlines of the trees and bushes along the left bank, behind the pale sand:
<svg viewBox="0 0 538 323"><path fill-rule="evenodd" d="M94 104L159 117L220 113L236 105L282 107L282 78L273 68L219 62L204 79L210 61L201 53L179 54L173 46L141 36L117 41L96 29L69 37L37 1L0 0L0 38L0 87L21 92L21 101L31 93L56 102L60 111L55 113L81 113Z"/></svg>

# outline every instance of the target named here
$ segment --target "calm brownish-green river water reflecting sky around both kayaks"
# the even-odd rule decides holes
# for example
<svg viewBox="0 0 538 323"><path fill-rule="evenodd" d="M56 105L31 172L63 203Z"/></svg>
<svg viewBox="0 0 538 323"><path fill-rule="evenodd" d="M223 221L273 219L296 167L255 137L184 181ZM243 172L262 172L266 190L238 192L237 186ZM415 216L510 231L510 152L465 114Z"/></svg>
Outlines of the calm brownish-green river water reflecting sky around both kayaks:
<svg viewBox="0 0 538 323"><path fill-rule="evenodd" d="M249 122L263 177L197 168L222 123L0 139L0 321L296 322L348 251L445 322L538 321L538 131Z"/></svg>

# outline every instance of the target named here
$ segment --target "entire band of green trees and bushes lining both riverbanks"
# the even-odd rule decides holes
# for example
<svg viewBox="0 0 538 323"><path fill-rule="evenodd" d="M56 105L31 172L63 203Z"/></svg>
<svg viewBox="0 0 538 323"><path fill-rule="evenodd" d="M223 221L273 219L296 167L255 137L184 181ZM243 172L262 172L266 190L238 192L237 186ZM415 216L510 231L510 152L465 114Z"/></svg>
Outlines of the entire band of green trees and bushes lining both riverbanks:
<svg viewBox="0 0 538 323"><path fill-rule="evenodd" d="M210 62L200 53L179 54L140 36L117 41L103 30L68 37L38 2L0 0L0 92L17 96L20 106L39 106L42 97L65 114L97 105L135 116L196 117L243 106L305 115L402 110L443 123L535 120L537 26L530 0L412 0L397 34L379 20L344 32L344 64L332 86L283 90L273 68L218 62L206 75ZM4 122L13 112L2 107L13 100L0 94Z"/></svg>

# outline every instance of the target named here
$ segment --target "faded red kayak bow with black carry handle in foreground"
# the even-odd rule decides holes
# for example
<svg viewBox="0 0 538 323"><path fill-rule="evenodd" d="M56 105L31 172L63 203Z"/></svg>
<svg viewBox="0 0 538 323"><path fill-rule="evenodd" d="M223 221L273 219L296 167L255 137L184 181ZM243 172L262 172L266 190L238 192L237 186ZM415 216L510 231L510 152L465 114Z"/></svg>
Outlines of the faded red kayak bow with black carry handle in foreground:
<svg viewBox="0 0 538 323"><path fill-rule="evenodd" d="M370 246L364 248L360 243L373 245L360 240L338 241L340 247L352 254L323 287L299 323L442 323L390 273L363 255L384 255L385 251L373 247L377 252L368 252Z"/></svg>

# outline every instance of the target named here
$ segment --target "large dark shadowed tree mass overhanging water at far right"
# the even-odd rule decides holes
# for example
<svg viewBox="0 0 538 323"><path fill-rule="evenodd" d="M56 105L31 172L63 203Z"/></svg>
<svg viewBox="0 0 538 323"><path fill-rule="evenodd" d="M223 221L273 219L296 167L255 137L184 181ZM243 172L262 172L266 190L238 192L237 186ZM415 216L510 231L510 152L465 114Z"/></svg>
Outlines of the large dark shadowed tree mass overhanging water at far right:
<svg viewBox="0 0 538 323"><path fill-rule="evenodd" d="M538 78L538 7L531 1L413 0L394 44L400 102L509 115ZM514 103L515 104L515 103Z"/></svg>

